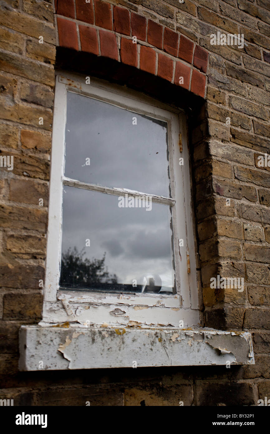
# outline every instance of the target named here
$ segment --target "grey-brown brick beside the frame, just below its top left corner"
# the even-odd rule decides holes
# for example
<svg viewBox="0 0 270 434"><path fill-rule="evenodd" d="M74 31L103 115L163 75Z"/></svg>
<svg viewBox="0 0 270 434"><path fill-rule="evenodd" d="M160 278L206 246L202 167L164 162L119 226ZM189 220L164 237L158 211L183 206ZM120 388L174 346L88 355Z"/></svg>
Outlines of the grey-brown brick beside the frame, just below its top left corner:
<svg viewBox="0 0 270 434"><path fill-rule="evenodd" d="M53 107L54 92L52 89L35 83L23 83L21 85L20 98L22 101Z"/></svg>

